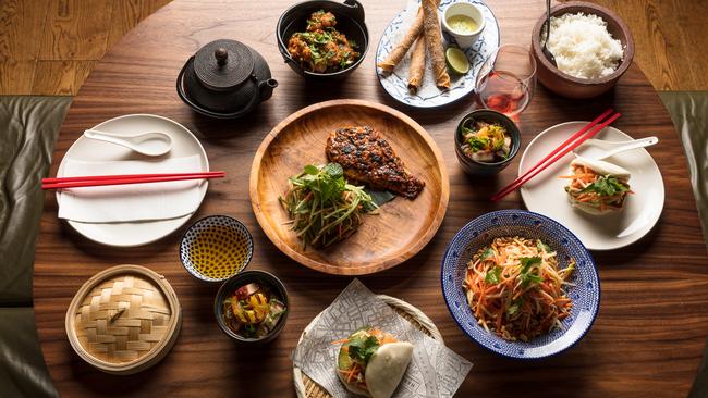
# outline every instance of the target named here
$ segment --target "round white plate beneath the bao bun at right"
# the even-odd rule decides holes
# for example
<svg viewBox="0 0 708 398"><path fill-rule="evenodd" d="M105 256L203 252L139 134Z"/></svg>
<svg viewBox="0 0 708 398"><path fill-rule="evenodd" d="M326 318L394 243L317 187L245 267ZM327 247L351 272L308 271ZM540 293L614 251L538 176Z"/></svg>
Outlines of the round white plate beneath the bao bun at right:
<svg viewBox="0 0 708 398"><path fill-rule="evenodd" d="M518 174L533 167L546 154L557 148L588 122L567 122L540 133L528 144L518 165ZM607 127L595 138L609 141L634 139L614 127ZM628 246L645 236L659 221L663 209L663 179L657 163L646 149L620 153L607 161L615 163L632 173L630 195L624 209L605 215L590 215L574 209L563 187L570 174L573 153L539 173L521 188L524 204L530 211L547 215L571 229L590 250L613 250Z"/></svg>

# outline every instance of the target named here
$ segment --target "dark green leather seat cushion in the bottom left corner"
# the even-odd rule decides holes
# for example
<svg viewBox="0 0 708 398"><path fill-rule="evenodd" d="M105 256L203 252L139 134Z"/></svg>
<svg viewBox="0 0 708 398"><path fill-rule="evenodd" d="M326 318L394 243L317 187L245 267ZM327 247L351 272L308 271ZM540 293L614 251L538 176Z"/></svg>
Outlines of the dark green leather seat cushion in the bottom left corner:
<svg viewBox="0 0 708 398"><path fill-rule="evenodd" d="M39 348L35 311L0 308L0 395L57 397Z"/></svg>

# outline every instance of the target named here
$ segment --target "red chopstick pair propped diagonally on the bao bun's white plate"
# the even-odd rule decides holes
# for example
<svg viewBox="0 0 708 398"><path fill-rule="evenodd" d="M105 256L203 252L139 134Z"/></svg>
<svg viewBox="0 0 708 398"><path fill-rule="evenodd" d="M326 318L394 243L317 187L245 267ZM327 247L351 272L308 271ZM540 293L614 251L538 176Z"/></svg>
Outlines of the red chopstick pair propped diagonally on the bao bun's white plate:
<svg viewBox="0 0 708 398"><path fill-rule="evenodd" d="M528 171L526 171L526 173L520 175L518 178L514 179L502 190L495 194L490 199L492 201L501 200L506 195L513 192L514 190L521 188L524 184L528 183L538 173L546 170L546 167L556 163L559 159L570 153L573 149L577 148L581 144L585 142L585 140L593 138L596 134L601 132L602 128L607 127L610 123L614 122L618 117L620 117L621 113L618 112L612 114L613 112L614 111L612 109L608 109L607 111L605 111L601 115L597 116L597 119L595 119L593 122L588 123L581 130L573 134L569 139L563 141L563 144L561 144L558 148L553 149L550 153L546 156L546 158L541 159L540 162L536 163L536 165L534 165ZM612 115L610 116L610 114ZM605 120L608 116L610 117ZM605 120L605 122L600 123L602 120ZM598 125L598 123L600 124Z"/></svg>

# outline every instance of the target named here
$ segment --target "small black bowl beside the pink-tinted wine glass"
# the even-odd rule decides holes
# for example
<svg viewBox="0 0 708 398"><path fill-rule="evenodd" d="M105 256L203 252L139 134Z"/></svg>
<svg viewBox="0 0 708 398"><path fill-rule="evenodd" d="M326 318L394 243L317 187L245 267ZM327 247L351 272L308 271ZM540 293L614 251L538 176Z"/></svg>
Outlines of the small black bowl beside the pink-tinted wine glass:
<svg viewBox="0 0 708 398"><path fill-rule="evenodd" d="M509 152L509 158L501 162L478 162L467 157L462 150L462 145L464 144L464 138L462 135L462 126L468 121L484 121L487 123L499 123L502 127L506 129L506 133L511 135L511 151ZM518 127L514 121L509 119L503 113L488 109L478 109L471 113L467 113L455 130L455 153L457 154L457 160L462 165L462 169L467 174L472 175L492 175L501 172L506 167L511 161L514 159L518 152L518 147L521 147L521 133L518 133Z"/></svg>

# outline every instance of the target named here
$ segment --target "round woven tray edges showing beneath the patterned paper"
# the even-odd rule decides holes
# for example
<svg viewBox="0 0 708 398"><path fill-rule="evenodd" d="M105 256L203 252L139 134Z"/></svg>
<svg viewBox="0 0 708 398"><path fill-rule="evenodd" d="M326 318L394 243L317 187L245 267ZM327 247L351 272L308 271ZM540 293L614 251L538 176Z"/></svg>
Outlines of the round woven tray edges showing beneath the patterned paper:
<svg viewBox="0 0 708 398"><path fill-rule="evenodd" d="M438 331L438 327L426 314L423 313L423 311L403 300L399 300L391 296L378 295L377 297L386 302L389 307L391 307L399 315L403 316L408 322L411 322L411 324L420 329L423 333L444 345L444 340L442 339L442 335L440 335L440 331ZM310 329L312 325L317 322L320 315L321 313L315 316L315 319L307 325L307 327L305 327L305 331L300 336L300 341L303 340L307 332ZM297 366L293 366L293 381L295 383L295 393L297 394L298 398L332 397L325 388L322 388L322 386L315 383L312 378L307 377L307 375L303 373Z"/></svg>

